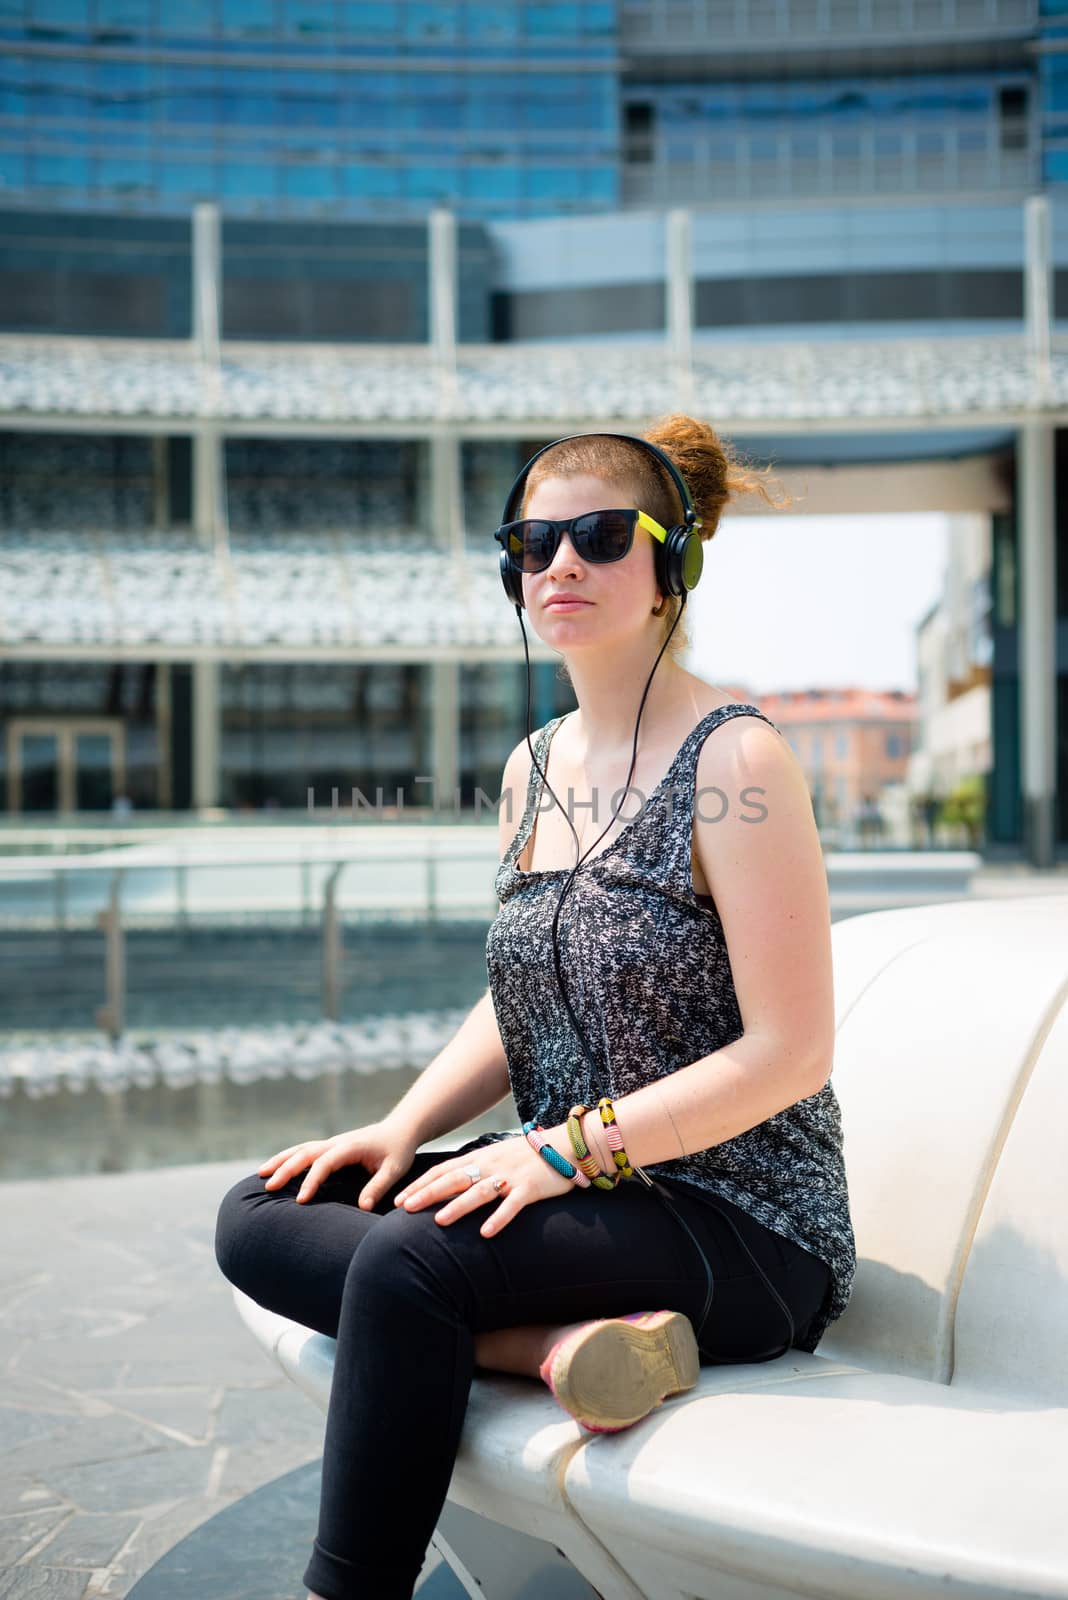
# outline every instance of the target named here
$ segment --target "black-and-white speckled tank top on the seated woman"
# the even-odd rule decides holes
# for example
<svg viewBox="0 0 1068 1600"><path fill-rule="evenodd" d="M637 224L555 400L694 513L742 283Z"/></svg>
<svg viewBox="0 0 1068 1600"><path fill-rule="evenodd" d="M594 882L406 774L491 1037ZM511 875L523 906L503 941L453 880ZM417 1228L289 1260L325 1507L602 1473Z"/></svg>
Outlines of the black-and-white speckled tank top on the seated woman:
<svg viewBox="0 0 1068 1600"><path fill-rule="evenodd" d="M500 907L486 936L489 987L523 1122L558 1125L576 1102L630 1094L740 1038L723 923L713 898L692 886L697 757L705 738L731 717L761 717L775 726L756 706L740 702L703 717L643 808L584 862L564 901L560 965L598 1062L593 1082L553 970L552 922L569 869L523 872L516 866L544 789L531 768L526 810L497 869ZM545 723L531 741L542 768L563 720ZM635 805L636 795L627 800L627 813ZM596 832L595 826L592 837ZM825 1302L798 1339L799 1349L814 1350L846 1309L857 1267L831 1083L734 1139L646 1171L734 1202L827 1262Z"/></svg>

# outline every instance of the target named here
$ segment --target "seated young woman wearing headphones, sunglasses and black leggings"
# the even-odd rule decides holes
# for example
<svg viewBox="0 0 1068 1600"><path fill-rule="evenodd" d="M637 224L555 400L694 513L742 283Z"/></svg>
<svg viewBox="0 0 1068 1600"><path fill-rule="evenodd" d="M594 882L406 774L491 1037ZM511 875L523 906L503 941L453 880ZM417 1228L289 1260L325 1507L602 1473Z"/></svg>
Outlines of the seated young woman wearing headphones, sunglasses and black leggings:
<svg viewBox="0 0 1068 1600"><path fill-rule="evenodd" d="M646 438L702 538L767 499L710 427ZM820 842L779 731L681 666L657 544L683 514L625 437L534 462L504 542L577 710L504 768L489 990L384 1122L280 1150L219 1208L227 1278L337 1341L312 1597L411 1597L476 1366L614 1430L702 1362L815 1349L849 1298ZM523 1134L417 1154L508 1090Z"/></svg>

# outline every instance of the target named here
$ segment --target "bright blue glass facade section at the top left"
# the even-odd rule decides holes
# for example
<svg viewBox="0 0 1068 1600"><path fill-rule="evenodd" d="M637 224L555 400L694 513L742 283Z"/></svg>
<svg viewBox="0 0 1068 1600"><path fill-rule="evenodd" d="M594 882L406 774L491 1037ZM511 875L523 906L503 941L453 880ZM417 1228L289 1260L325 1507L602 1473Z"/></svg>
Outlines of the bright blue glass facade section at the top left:
<svg viewBox="0 0 1068 1600"><path fill-rule="evenodd" d="M612 0L0 0L0 200L609 210L617 80Z"/></svg>

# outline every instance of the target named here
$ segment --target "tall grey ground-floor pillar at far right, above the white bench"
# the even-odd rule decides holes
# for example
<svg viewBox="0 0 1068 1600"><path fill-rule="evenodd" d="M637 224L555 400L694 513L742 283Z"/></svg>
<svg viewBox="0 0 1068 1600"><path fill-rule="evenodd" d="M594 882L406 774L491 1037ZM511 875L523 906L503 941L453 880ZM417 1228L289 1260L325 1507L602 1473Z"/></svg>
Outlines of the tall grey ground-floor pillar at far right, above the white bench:
<svg viewBox="0 0 1068 1600"><path fill-rule="evenodd" d="M1050 424L1023 424L1017 462L1023 850L1031 866L1050 867L1057 827L1057 584Z"/></svg>

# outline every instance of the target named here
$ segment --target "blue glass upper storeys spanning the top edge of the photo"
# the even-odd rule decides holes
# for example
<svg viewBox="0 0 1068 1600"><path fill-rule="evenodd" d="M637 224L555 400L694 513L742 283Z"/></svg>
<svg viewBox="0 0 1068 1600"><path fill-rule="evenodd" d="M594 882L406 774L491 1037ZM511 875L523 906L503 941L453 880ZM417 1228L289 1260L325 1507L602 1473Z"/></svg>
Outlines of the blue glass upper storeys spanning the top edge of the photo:
<svg viewBox="0 0 1068 1600"><path fill-rule="evenodd" d="M0 0L0 197L488 221L1023 194L1068 174L1063 32L1062 0Z"/></svg>

